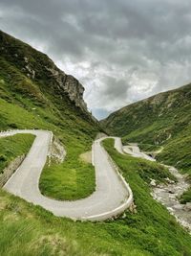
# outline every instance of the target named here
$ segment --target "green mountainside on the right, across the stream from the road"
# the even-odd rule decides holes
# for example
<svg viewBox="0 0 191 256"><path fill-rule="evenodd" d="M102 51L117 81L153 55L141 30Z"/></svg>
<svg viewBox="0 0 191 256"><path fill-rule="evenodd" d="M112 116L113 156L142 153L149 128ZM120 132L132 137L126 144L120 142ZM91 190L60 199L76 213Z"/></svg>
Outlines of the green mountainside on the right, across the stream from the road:
<svg viewBox="0 0 191 256"><path fill-rule="evenodd" d="M140 148L163 149L160 161L191 175L191 84L127 105L111 114L102 125L123 137L139 142ZM145 145L144 145L145 144ZM191 199L191 197L190 197Z"/></svg>

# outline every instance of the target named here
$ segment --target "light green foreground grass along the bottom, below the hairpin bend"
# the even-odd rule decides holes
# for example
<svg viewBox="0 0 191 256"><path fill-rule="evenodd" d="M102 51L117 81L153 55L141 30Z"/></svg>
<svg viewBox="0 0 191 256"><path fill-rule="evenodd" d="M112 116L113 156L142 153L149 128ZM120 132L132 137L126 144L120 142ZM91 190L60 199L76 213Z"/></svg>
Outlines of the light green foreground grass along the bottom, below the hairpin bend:
<svg viewBox="0 0 191 256"><path fill-rule="evenodd" d="M0 191L0 198L2 256L152 255L129 242L131 232L120 223L69 221L55 218L42 208L3 191ZM135 236L136 232L132 239Z"/></svg>

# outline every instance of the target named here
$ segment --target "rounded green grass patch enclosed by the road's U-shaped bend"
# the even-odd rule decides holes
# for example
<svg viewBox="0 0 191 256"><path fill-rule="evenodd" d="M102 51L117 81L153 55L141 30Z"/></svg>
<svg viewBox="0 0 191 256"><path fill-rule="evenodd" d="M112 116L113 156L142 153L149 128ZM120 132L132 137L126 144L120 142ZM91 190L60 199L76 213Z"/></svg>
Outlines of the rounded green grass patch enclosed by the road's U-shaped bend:
<svg viewBox="0 0 191 256"><path fill-rule="evenodd" d="M86 198L95 191L95 169L91 164L84 163L79 158L76 159L80 155L80 149L70 147L69 150L70 157L67 156L66 162L47 166L43 171L39 182L43 195L62 200L74 200Z"/></svg>

